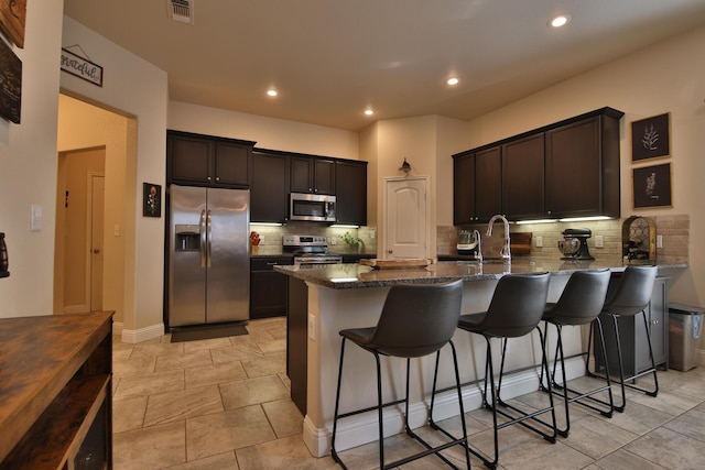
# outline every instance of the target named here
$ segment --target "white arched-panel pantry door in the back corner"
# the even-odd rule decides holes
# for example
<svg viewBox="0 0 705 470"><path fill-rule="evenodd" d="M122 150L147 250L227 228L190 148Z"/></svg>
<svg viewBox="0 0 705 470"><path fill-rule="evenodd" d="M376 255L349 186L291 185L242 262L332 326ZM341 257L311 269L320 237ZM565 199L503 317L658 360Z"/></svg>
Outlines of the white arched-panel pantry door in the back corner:
<svg viewBox="0 0 705 470"><path fill-rule="evenodd" d="M386 179L384 258L430 258L429 178Z"/></svg>

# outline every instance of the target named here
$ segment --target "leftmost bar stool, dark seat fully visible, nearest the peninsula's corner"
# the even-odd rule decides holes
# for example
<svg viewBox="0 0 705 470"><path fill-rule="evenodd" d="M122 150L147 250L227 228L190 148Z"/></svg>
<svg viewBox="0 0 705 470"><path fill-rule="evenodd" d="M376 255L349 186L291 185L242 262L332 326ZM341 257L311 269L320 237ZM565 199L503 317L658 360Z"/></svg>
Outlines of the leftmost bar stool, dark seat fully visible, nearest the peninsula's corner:
<svg viewBox="0 0 705 470"><path fill-rule="evenodd" d="M354 328L340 330L343 342L340 345L340 365L338 370L338 385L335 397L335 417L333 420L333 436L330 444L330 455L333 459L343 468L347 468L335 449L335 438L338 419L354 416L360 413L377 408L379 420L379 467L389 469L408 463L412 460L435 453L445 463L457 468L451 462L441 450L456 445L466 448L467 468L470 468L470 456L467 451L467 430L465 427L465 412L463 408L463 397L460 391L460 378L458 374L457 357L452 337L455 332L458 318L460 316L460 304L463 300L463 281L452 283L429 284L429 285L397 285L392 286L387 295L379 321L376 327ZM377 406L358 409L349 413L339 413L340 405L340 382L343 378L343 359L345 354L346 341L371 352L377 363ZM432 447L409 426L409 369L411 358L421 358L436 353L434 378L438 370L441 348L446 343L451 345L453 352L453 363L455 368L456 389L460 407L463 436L453 440ZM380 371L380 356L390 356L406 359L406 386L403 400L382 403L382 381ZM434 380L435 382L435 380ZM387 406L404 404L404 429L409 436L421 442L426 450L413 456L405 457L392 463L384 463L384 429L382 425L382 409ZM433 403L430 413L433 413Z"/></svg>

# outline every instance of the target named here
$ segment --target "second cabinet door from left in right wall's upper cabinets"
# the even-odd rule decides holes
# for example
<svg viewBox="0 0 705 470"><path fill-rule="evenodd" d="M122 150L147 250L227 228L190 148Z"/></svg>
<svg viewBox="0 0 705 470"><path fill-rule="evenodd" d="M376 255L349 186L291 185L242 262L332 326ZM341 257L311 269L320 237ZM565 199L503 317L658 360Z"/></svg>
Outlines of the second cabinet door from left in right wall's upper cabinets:
<svg viewBox="0 0 705 470"><path fill-rule="evenodd" d="M475 220L488 221L502 214L501 149L494 147L475 154Z"/></svg>

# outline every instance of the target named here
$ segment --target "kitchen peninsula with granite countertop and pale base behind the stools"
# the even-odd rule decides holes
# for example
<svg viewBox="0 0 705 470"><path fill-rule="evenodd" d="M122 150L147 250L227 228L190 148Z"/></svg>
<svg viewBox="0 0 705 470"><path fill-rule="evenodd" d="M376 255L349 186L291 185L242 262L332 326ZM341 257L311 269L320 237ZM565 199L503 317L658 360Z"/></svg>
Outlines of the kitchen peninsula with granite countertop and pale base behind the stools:
<svg viewBox="0 0 705 470"><path fill-rule="evenodd" d="M682 266L659 266L661 269ZM497 281L509 273L550 272L549 302L555 302L570 274L587 269L609 269L614 273L625 270L620 259L609 261L530 261L514 260L503 263L438 262L425 269L373 270L359 264L335 264L325 267L275 266L275 271L289 275L288 372L291 378L292 400L305 415L304 441L314 456L329 451L330 430L335 406L335 387L338 374L340 337L345 328L369 327L377 324L389 287L395 284L424 284L465 281L463 313L481 311L491 299ZM665 280L662 280L665 293ZM665 295L665 294L664 294ZM663 298L665 302L665 298ZM538 371L532 368L540 360L538 335L510 341L507 370L523 370L507 381L502 387L505 397L518 396L538 390ZM549 334L553 350L555 332ZM563 341L566 356L583 349L579 328L564 328ZM471 383L484 376L485 343L463 331L454 336L460 362L460 379ZM666 351L668 352L668 351ZM441 353L440 387L451 384L449 352ZM404 367L398 358L382 358L383 400L398 395L404 384ZM376 403L375 361L369 353L357 348L346 354L346 374L341 387L341 412L357 409ZM568 380L584 373L583 360L566 361ZM410 425L423 426L427 420L430 392L433 380L433 357L416 360L411 372ZM351 379L354 378L354 379ZM367 378L367 379L366 379ZM354 383L352 383L354 382ZM420 385L420 386L414 386ZM467 409L480 406L478 386L465 386L464 404ZM436 397L434 417L444 419L457 414L457 400L452 392ZM384 429L390 435L401 433L401 413L395 408L384 411ZM340 426L336 447L340 450L376 439L375 415L360 415L352 423Z"/></svg>

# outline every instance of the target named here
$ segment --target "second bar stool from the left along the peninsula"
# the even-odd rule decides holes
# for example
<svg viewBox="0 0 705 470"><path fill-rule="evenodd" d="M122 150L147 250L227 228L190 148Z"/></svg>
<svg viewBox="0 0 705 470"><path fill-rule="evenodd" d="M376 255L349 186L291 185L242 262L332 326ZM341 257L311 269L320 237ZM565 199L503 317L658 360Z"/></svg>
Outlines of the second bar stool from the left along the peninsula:
<svg viewBox="0 0 705 470"><path fill-rule="evenodd" d="M546 305L546 296L549 293L550 276L547 273L541 274L508 274L500 277L495 287L492 299L487 311L478 314L462 315L458 321L458 328L469 331L471 334L481 335L487 343L487 359L485 362L485 387L482 393L482 406L492 411L492 425L494 425L494 459L489 460L485 455L468 446L468 450L477 458L482 460L485 466L489 468L497 468L499 461L499 439L498 430L513 424L521 424L528 429L533 430L541 435L550 442L555 442L556 439L556 422L555 409L553 405L553 394L550 394L550 406L543 409L524 412L518 407L510 405L501 400L501 381L505 369L505 357L507 352L507 340L509 338L519 338L529 335L536 329L541 339L541 367L549 373L549 363L544 350L543 334L539 328L543 311ZM499 381L495 386L495 372L492 367L492 348L491 339L500 338L503 342L501 365L499 370ZM487 401L487 389L490 389L490 402ZM547 385L550 389L550 384ZM434 391L435 393L435 387ZM507 408L513 413L508 413ZM551 423L545 423L538 416L550 413ZM509 420L498 423L497 415L502 415ZM544 428L550 429L549 433L544 431L530 424L536 423ZM442 430L446 435L451 436L446 430L441 428L436 423L431 423L431 426Z"/></svg>

